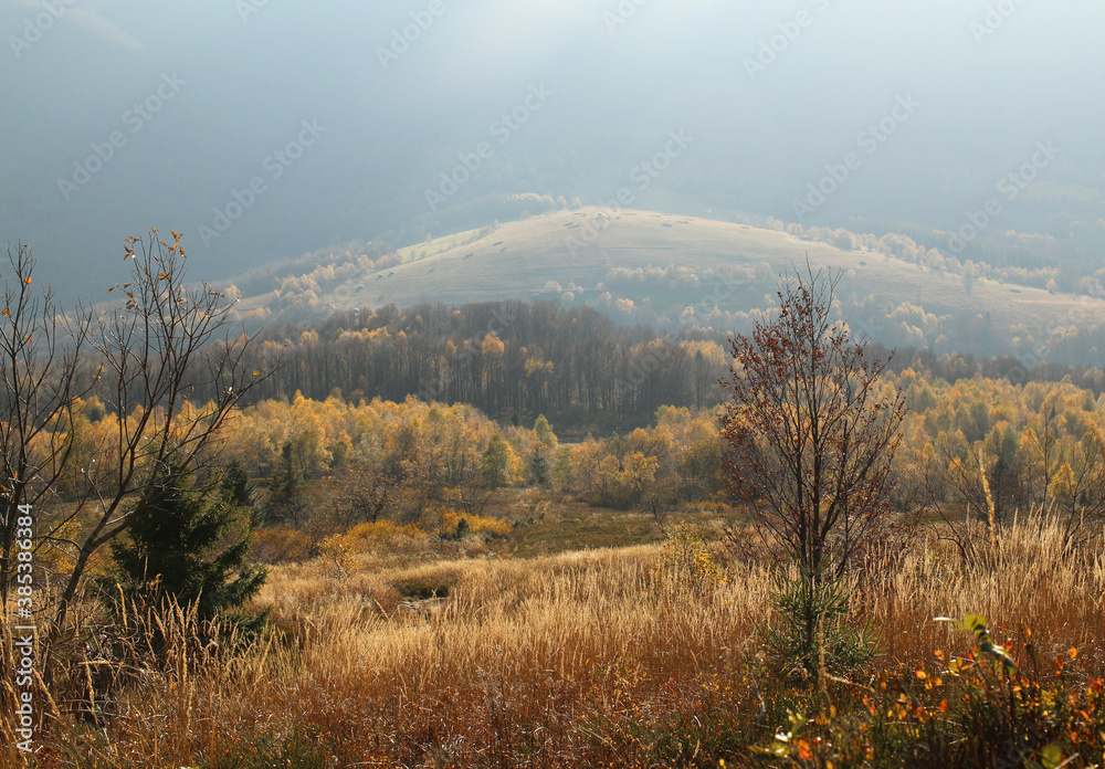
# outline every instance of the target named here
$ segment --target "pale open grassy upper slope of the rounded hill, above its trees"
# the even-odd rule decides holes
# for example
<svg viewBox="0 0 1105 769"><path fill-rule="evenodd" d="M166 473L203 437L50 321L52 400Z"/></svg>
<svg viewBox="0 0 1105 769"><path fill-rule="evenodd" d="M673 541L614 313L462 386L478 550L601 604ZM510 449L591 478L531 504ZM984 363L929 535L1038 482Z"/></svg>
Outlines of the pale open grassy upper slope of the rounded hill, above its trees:
<svg viewBox="0 0 1105 769"><path fill-rule="evenodd" d="M1038 334L1080 319L1105 323L1105 303L1099 301L991 281L979 281L968 296L957 276L922 271L883 254L842 251L782 232L676 214L624 211L609 220L592 243L577 247L573 255L570 239L580 241L583 230L579 225L593 221L598 211L561 211L511 222L482 238L471 231L410 246L402 250L404 261L410 260L404 264L357 275L320 298L335 309L423 301L463 304L538 296L548 281L565 287L575 282L586 289L586 298L592 298L609 267L716 267L767 262L779 273L808 254L814 265L854 270L843 285L845 298L874 294L895 304L919 299L927 312L937 315L989 312L994 328L1023 323ZM364 288L358 289L359 285ZM638 295L631 291L623 287L615 298L628 296L640 303L650 288L638 288ZM242 309L252 309L263 301L246 299ZM749 309L747 302L749 297L741 295L722 306ZM756 304L762 306L764 302Z"/></svg>

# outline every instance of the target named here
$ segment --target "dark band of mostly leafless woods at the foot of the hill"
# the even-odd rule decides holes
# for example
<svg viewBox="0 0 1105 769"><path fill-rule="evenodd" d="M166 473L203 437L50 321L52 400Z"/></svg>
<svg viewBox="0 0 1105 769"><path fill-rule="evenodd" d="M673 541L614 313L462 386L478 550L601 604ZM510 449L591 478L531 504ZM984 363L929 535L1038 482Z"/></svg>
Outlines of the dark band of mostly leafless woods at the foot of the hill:
<svg viewBox="0 0 1105 769"><path fill-rule="evenodd" d="M576 426L614 426L661 405L717 403L724 343L724 335L661 338L551 303L387 306L367 318L346 313L267 331L259 356L281 351L283 365L255 392L322 400L340 391L354 403L415 396L499 419L547 413Z"/></svg>

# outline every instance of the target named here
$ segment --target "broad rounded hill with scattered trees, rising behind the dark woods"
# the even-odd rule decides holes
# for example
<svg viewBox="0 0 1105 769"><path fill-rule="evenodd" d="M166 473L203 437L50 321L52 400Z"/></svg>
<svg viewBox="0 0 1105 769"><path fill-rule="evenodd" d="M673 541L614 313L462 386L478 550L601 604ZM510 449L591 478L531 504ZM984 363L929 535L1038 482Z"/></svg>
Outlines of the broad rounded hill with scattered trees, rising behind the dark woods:
<svg viewBox="0 0 1105 769"><path fill-rule="evenodd" d="M775 304L776 276L808 257L815 267L845 271L845 316L888 344L1009 352L1059 328L1105 324L1099 299L982 277L967 282L924 266L913 253L895 255L885 240L856 236L855 247L840 247L748 224L585 208L450 235L375 263L349 254L284 281L281 289L243 298L241 312L306 319L341 310L367 315L386 304L545 298L589 304L622 322L686 325L693 318L739 330Z"/></svg>

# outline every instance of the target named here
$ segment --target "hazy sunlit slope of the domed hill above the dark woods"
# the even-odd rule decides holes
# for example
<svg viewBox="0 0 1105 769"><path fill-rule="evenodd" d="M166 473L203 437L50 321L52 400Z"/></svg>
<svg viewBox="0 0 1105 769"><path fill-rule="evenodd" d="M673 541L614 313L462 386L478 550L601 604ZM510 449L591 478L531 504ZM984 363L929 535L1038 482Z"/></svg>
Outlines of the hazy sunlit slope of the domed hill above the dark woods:
<svg viewBox="0 0 1105 769"><path fill-rule="evenodd" d="M980 315L997 331L1023 334L1020 327L1024 327L1038 338L1046 338L1057 326L1105 323L1105 303L1084 296L987 280L976 281L968 294L958 275L923 270L884 253L842 250L730 222L651 211L622 211L611 218L599 209L560 211L451 235L404 249L396 259L406 263L383 268L348 265L350 276L317 286L313 306L317 312L367 314L389 303L557 298L624 310L624 319L672 318L684 306L696 305L747 313L774 304L776 275L807 256L814 266L845 271L841 298L850 302L872 295L883 305L919 305L927 314L951 316L959 323ZM655 270L651 280L627 275L650 266L686 267L684 272L706 277L676 285L657 277ZM744 272L723 277L734 267ZM615 270L620 275L611 272ZM241 309L270 305L278 316L291 296L285 294L275 306L272 295L246 298ZM651 313L632 317L645 308ZM703 315L699 312L699 322Z"/></svg>

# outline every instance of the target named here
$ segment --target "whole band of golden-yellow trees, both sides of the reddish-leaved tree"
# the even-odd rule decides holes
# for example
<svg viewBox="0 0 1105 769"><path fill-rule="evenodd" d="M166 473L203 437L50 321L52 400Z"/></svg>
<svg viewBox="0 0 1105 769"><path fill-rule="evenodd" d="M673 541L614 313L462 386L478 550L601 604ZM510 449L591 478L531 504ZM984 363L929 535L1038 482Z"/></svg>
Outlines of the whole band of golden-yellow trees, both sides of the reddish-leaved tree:
<svg viewBox="0 0 1105 769"><path fill-rule="evenodd" d="M1070 380L949 383L913 368L888 372L881 386L902 391L908 408L893 467L899 509L959 516L969 507L975 517L992 513L1003 520L1043 505L1061 514L1072 534L1105 515L1105 396ZM275 509L277 520L305 514L293 504L305 482L327 489L306 512L345 510L347 525L377 517L414 523L429 502L463 507L471 503L464 489L501 486L662 514L723 499L718 408L665 405L649 414L648 426L568 443L543 415L512 424L464 403L413 397L350 403L296 393L236 411L218 464L267 480L262 507ZM51 425L43 440L52 435L69 446L76 483L118 431L118 418L93 398L80 401L72 419Z"/></svg>

